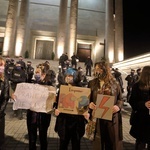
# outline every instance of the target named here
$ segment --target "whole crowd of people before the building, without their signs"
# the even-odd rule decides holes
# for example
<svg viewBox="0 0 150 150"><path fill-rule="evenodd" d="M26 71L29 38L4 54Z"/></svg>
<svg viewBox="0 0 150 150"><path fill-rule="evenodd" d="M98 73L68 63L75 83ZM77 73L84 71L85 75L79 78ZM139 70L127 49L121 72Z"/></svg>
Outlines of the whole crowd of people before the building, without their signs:
<svg viewBox="0 0 150 150"><path fill-rule="evenodd" d="M4 143L5 130L5 109L10 98L15 99L13 92L18 83L34 83L48 85L57 88L56 102L53 104L53 114L56 117L55 132L59 135L59 150L67 150L71 141L72 150L80 150L81 139L85 134L85 127L89 120L93 119L93 112L97 109L97 94L114 97L112 107L112 120L96 119L93 149L94 150L123 150L123 131L121 110L123 106L123 80L119 69L110 68L106 60L100 60L93 64L90 57L85 61L86 73L77 67L79 58L73 54L69 63L67 53L62 54L59 59L58 76L51 69L50 63L45 61L32 67L32 62L25 63L22 57L18 61L11 58L0 58L0 150ZM78 60L76 60L78 59ZM93 71L92 68L93 67ZM142 71L142 72L141 72ZM93 74L92 74L93 72ZM136 138L135 150L143 150L145 146L150 149L149 137L149 109L150 109L150 66L143 69L131 70L125 80L127 84L127 101L130 103L133 112L136 113L136 120L132 121L130 134ZM86 76L93 75L88 81ZM56 78L57 77L57 78ZM134 78L133 78L134 77ZM56 85L56 80L58 85ZM59 93L61 85L89 88L88 113L84 115L66 114L58 109ZM10 88L11 87L11 88ZM11 89L11 91L10 91ZM10 94L11 93L11 94ZM10 97L11 95L11 97ZM22 111L14 111L22 119ZM35 112L26 110L27 129L29 135L29 150L36 149L37 132L41 150L47 150L47 131L50 126L52 113ZM138 124L138 126L137 126ZM143 132L141 131L141 127Z"/></svg>

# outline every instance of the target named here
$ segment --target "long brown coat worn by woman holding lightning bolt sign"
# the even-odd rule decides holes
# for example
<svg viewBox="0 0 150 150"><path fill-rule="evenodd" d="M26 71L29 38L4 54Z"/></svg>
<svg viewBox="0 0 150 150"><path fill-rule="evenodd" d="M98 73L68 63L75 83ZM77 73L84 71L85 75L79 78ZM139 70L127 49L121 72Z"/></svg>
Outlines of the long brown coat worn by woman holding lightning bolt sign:
<svg viewBox="0 0 150 150"><path fill-rule="evenodd" d="M111 87L113 89L113 96L115 96L114 105L119 106L122 108L123 100L122 100L122 93L120 87L117 82L111 83ZM91 88L91 101L96 104L96 98L98 90L100 89L100 81L98 78L95 78L89 81L89 88ZM104 150L101 133L103 131L102 124L107 124L110 126L110 130L105 135L110 135L112 140L112 150L122 150L122 116L121 111L113 114L112 121L97 119L97 126L96 126L96 135L95 140L93 141L93 149L94 150Z"/></svg>

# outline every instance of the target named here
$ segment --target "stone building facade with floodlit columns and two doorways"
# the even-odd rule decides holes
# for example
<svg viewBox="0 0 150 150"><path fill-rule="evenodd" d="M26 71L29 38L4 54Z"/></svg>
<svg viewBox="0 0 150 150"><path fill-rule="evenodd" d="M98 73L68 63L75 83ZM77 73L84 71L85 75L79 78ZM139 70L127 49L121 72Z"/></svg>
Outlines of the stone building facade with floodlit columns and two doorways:
<svg viewBox="0 0 150 150"><path fill-rule="evenodd" d="M31 59L124 59L122 0L1 0L0 51Z"/></svg>

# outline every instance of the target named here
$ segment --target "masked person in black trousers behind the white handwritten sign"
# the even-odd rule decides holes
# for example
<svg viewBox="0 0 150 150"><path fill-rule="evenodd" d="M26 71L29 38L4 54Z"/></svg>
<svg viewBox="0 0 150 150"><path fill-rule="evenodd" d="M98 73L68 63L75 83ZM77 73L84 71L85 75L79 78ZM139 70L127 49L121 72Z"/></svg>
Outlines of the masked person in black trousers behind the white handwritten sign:
<svg viewBox="0 0 150 150"><path fill-rule="evenodd" d="M35 71L35 83L40 85L53 85L51 72L43 68L37 68ZM27 111L27 128L29 135L29 150L36 150L37 131L39 131L40 149L47 150L47 131L51 121L51 114Z"/></svg>

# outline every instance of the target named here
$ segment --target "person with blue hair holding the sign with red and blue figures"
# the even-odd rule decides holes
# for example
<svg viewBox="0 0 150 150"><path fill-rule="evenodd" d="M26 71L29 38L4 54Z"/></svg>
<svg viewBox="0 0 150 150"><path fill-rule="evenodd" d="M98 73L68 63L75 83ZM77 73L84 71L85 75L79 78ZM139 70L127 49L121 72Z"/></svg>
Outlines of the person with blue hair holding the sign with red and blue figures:
<svg viewBox="0 0 150 150"><path fill-rule="evenodd" d="M74 73L75 70L73 68L68 68L65 72L65 82L61 81L61 83L65 83L65 85L67 85L68 87L70 86L70 88L79 85L76 81L80 82L82 79L77 79L77 77L74 77ZM89 114L87 113L85 115L78 115L60 112L59 108L57 108L59 103L59 96L60 91L58 92L57 104L55 109L55 115L57 116L55 131L60 137L59 150L67 150L70 141L72 144L72 150L80 150L80 141L85 133L85 124L87 123L86 119L88 119ZM65 105L68 108L66 108L67 110L71 110L71 108L73 109L76 97L71 97L71 94L68 94L68 97L66 97L65 100L70 102L69 107L65 105L65 101L62 105Z"/></svg>

